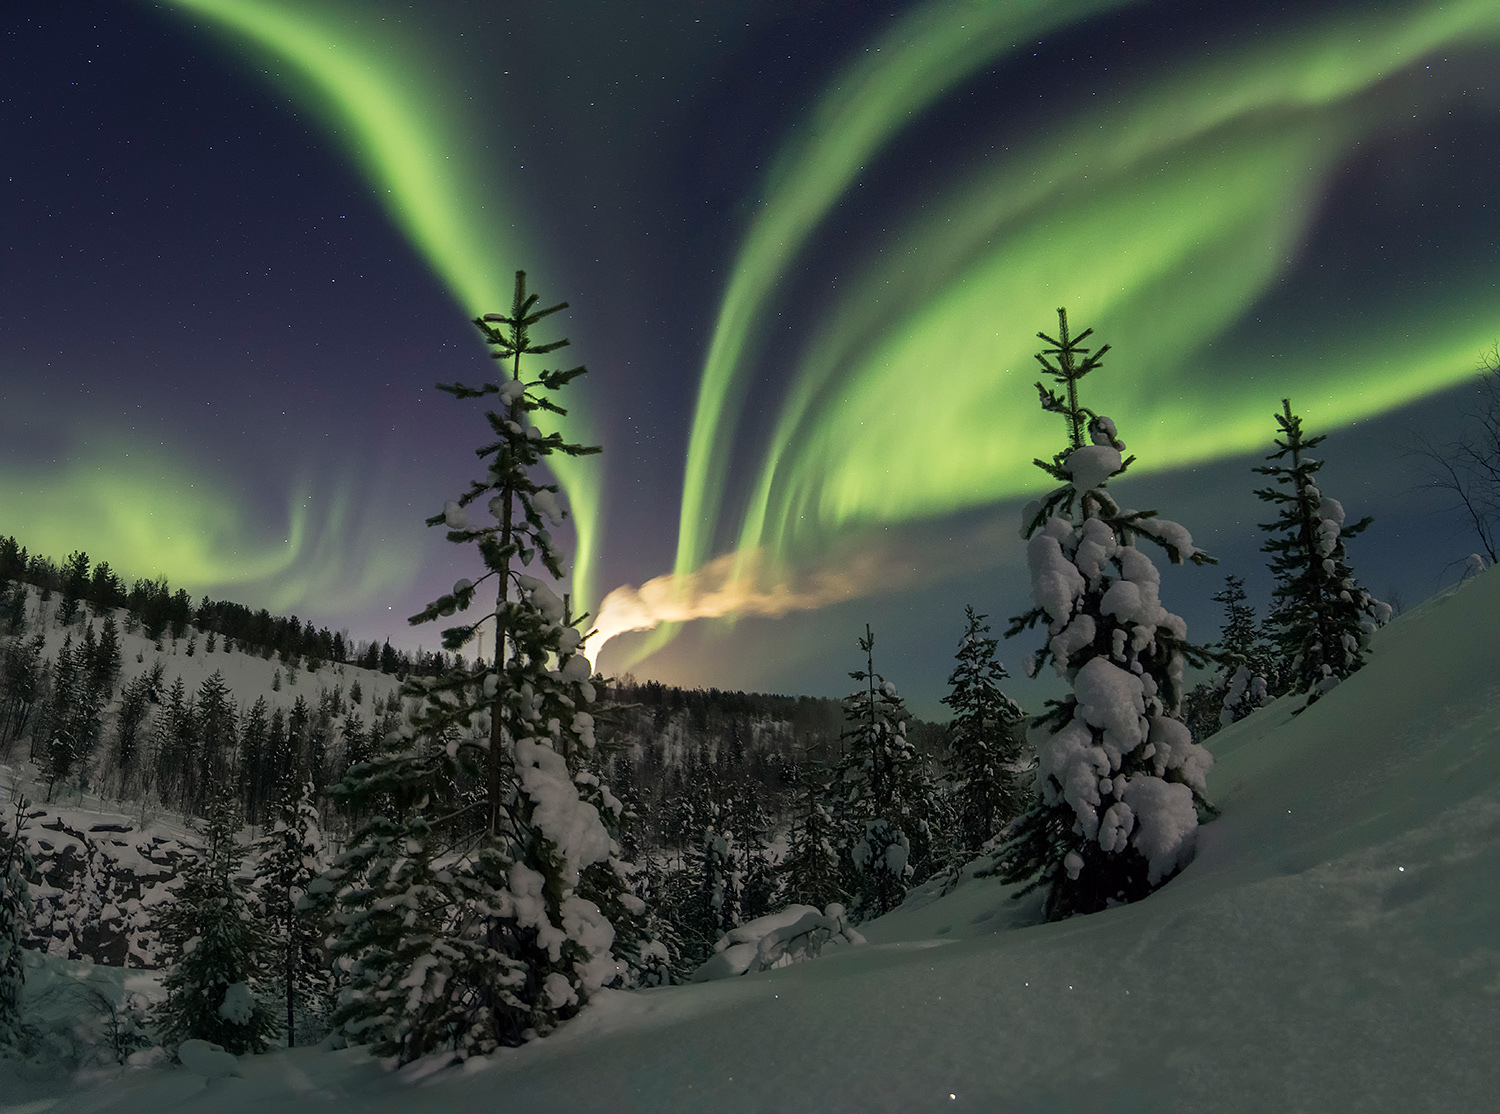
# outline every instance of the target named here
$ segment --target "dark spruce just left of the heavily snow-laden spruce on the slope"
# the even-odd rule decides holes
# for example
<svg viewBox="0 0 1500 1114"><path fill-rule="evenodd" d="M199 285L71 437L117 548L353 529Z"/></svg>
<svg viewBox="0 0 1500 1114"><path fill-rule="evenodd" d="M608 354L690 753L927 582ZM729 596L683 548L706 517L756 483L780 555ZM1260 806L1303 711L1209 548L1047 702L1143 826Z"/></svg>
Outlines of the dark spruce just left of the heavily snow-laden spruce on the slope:
<svg viewBox="0 0 1500 1114"><path fill-rule="evenodd" d="M986 618L964 607L964 633L942 699L952 709L952 849L963 862L1026 808L1020 784L1024 714L1000 691L1008 673L994 657L999 640L990 637Z"/></svg>

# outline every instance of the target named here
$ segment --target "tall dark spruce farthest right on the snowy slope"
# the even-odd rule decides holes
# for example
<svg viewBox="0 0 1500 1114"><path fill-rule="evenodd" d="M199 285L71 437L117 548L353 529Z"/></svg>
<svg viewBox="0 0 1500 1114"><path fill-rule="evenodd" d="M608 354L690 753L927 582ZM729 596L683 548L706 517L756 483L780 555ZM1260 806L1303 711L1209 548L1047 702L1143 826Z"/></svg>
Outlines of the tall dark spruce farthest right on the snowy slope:
<svg viewBox="0 0 1500 1114"><path fill-rule="evenodd" d="M1281 436L1266 460L1281 463L1256 469L1276 484L1256 492L1278 508L1276 520L1260 526L1270 534L1262 552L1270 553L1276 577L1268 625L1281 651L1287 691L1306 693L1311 705L1365 664L1370 636L1390 618L1390 606L1359 586L1344 552L1344 543L1372 519L1344 525L1342 504L1312 481L1323 462L1306 453L1323 438L1302 438L1302 418L1288 399L1275 417Z"/></svg>

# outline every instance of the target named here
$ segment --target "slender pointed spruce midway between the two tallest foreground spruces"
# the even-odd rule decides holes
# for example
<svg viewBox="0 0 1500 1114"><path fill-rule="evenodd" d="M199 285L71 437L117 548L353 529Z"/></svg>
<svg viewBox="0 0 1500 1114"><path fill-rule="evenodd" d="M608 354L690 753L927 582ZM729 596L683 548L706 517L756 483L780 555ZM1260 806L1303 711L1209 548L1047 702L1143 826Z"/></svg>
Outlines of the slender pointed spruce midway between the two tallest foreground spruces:
<svg viewBox="0 0 1500 1114"><path fill-rule="evenodd" d="M890 913L918 876L933 867L940 814L927 760L906 738L906 705L896 685L874 672L874 634L866 625L866 667L844 699L844 756L834 783L846 828L852 912L861 919Z"/></svg>

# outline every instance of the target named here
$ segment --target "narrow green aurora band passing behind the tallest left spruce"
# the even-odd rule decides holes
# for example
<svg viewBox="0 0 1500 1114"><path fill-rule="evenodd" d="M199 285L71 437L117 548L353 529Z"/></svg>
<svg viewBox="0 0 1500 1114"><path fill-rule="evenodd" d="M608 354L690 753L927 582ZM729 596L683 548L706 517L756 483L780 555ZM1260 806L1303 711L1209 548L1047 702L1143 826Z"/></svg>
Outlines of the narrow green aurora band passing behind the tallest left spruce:
<svg viewBox="0 0 1500 1114"><path fill-rule="evenodd" d="M514 271L542 270L536 246L512 220L516 205L506 198L504 174L476 154L484 145L483 126L440 85L441 66L420 60L410 33L390 34L356 6L171 1L278 67L274 76L345 145L465 313L507 309ZM544 297L558 294L534 285ZM578 409L558 424L568 439L590 439ZM552 468L567 490L578 534L573 592L586 601L600 516L598 465L558 457Z"/></svg>

